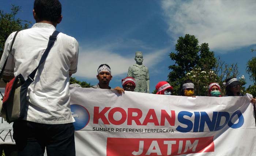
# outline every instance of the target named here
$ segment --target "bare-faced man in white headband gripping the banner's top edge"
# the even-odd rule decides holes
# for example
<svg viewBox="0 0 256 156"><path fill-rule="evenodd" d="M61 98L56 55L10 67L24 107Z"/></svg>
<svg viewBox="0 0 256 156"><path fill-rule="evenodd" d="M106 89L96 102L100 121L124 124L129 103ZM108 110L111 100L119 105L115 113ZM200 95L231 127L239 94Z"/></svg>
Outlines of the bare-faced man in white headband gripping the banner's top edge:
<svg viewBox="0 0 256 156"><path fill-rule="evenodd" d="M111 69L109 65L101 64L99 66L97 79L99 80L99 83L94 85L91 88L101 88L101 89L109 89L109 90L111 89L111 87L109 87L109 82L112 79L112 75L111 75ZM122 94L124 92L124 90L120 87L116 87L114 88L114 90L116 90L119 94Z"/></svg>

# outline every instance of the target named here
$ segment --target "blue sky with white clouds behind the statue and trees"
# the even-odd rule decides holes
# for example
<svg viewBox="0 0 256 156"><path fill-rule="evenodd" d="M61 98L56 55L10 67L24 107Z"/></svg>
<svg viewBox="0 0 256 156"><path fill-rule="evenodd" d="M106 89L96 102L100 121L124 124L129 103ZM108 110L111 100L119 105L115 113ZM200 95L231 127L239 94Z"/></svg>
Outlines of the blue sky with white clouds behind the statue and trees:
<svg viewBox="0 0 256 156"><path fill-rule="evenodd" d="M209 43L215 56L229 64L238 63L246 87L252 84L246 62L256 53L256 1L205 0L60 0L63 20L57 30L79 42L78 80L96 84L97 68L109 64L111 87L121 86L128 67L142 51L150 72L150 91L167 80L169 58L180 36L195 35ZM1 0L0 9L10 12L11 4L22 7L18 18L33 22L33 0Z"/></svg>

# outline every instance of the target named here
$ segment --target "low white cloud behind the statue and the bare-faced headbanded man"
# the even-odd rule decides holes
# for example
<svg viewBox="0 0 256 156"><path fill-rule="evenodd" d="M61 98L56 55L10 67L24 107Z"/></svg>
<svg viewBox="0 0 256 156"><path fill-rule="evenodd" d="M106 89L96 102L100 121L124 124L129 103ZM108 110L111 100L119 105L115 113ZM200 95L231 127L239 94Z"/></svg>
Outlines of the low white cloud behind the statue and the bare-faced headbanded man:
<svg viewBox="0 0 256 156"><path fill-rule="evenodd" d="M134 41L132 40L131 42ZM136 50L123 53L118 53L118 50L113 50L123 48L125 46L126 45L124 45L123 43L110 43L97 47L80 47L78 71L75 76L85 77L87 79L95 79L98 66L101 64L108 64L111 68L113 76L126 75L129 66L135 64L134 57ZM141 46L148 47L146 45ZM165 56L168 51L169 48L160 50L150 49L146 52L142 51L144 57L143 64L145 64L148 68L154 69L154 65L158 64L164 58L163 56ZM127 53L129 54L127 55Z"/></svg>

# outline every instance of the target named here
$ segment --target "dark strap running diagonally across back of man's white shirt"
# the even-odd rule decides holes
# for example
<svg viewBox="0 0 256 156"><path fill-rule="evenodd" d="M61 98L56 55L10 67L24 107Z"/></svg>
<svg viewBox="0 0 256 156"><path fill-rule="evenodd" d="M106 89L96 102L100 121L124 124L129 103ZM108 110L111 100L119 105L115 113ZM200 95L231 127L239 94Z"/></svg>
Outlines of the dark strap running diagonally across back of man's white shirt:
<svg viewBox="0 0 256 156"><path fill-rule="evenodd" d="M48 56L48 54L49 54L49 52L50 52L50 49L53 47L54 42L57 40L57 35L58 35L59 33L60 33L59 31L55 30L55 31L53 32L53 34L50 35L47 48L45 49L45 52L44 52L44 54L42 55L41 60L39 61L39 64L38 64L37 68L35 68L34 71L27 77L27 80L26 80L26 82L25 82L25 84L24 84L24 85L26 85L27 87L29 87L29 85L34 81L34 77L35 77L35 73L37 72L37 69L38 69L39 66L46 60L46 57Z"/></svg>

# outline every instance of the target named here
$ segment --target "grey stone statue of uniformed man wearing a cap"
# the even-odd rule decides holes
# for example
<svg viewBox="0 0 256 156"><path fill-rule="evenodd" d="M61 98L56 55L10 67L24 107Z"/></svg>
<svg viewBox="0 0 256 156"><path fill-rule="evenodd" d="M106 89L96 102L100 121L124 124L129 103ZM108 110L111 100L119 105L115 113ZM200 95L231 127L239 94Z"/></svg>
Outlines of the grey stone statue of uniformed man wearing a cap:
<svg viewBox="0 0 256 156"><path fill-rule="evenodd" d="M149 73L148 68L142 64L142 52L136 52L134 60L136 64L129 67L127 76L135 79L135 92L149 93Z"/></svg>

